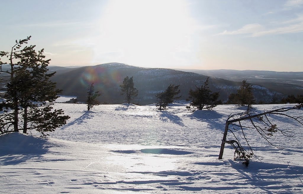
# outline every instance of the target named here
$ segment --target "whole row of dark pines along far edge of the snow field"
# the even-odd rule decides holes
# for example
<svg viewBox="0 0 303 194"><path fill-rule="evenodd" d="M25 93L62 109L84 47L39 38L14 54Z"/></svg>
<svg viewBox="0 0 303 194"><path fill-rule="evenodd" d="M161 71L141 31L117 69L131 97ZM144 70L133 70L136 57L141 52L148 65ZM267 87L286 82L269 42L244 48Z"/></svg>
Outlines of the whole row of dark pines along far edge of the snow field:
<svg viewBox="0 0 303 194"><path fill-rule="evenodd" d="M138 96L138 90L134 87L134 78L126 76L120 85L121 95L125 95L124 102L130 104L132 100L136 96ZM95 105L99 105L100 102L97 100L98 96L101 94L94 89L94 83L89 85L87 88L87 100L88 110ZM159 92L155 95L157 100L156 104L158 110L165 110L166 107L173 103L175 100L178 100L181 95L180 94L179 85L170 84L163 92ZM204 84L201 86L195 86L195 89L190 89L188 93L189 105L187 106L188 110L212 110L218 104L223 104L221 100L218 100L220 97L220 92L212 92L209 87L209 77L206 79ZM73 99L72 103L75 103L77 100ZM294 96L290 95L281 100L281 103L301 103L303 101L303 95ZM273 98L273 104L277 104L278 101ZM253 94L253 87L251 84L247 82L247 80L243 80L239 89L236 93L232 93L228 97L228 101L226 104L238 104L239 106L247 106L247 112L251 108L252 104L255 104L256 100Z"/></svg>

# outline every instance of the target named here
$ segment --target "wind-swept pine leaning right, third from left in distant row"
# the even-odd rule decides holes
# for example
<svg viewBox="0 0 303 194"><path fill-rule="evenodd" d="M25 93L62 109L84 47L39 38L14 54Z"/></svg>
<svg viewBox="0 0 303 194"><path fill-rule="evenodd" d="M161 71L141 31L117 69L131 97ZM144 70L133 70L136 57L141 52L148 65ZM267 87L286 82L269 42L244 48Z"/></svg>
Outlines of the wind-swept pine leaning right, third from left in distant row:
<svg viewBox="0 0 303 194"><path fill-rule="evenodd" d="M173 103L174 100L181 97L177 96L179 93L179 85L175 86L174 84L170 84L164 92L156 94L158 109L165 110L168 104Z"/></svg>

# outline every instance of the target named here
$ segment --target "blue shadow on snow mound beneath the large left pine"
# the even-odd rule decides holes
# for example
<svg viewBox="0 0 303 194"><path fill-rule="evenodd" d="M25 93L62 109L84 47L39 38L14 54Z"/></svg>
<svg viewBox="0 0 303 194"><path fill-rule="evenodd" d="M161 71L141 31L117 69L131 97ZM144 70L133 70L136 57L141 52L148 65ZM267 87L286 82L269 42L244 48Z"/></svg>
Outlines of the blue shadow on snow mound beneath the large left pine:
<svg viewBox="0 0 303 194"><path fill-rule="evenodd" d="M14 132L0 137L0 165L17 165L27 160L43 161L52 146L45 138Z"/></svg>

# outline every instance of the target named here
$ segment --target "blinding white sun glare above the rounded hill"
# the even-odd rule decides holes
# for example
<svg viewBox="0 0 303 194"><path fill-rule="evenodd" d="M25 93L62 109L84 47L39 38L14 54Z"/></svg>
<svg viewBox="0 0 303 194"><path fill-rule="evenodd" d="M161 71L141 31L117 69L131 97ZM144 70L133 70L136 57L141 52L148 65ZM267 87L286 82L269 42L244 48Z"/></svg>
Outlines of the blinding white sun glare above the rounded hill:
<svg viewBox="0 0 303 194"><path fill-rule="evenodd" d="M109 1L95 24L92 63L115 58L140 66L183 64L192 54L198 26L189 13L184 0Z"/></svg>

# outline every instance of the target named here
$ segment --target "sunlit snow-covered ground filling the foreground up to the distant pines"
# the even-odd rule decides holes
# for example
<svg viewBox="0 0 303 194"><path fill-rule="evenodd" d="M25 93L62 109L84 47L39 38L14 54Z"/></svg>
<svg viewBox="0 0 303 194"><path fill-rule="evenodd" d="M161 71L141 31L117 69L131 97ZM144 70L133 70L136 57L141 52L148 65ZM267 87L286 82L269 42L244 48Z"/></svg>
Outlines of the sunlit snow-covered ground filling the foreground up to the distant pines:
<svg viewBox="0 0 303 194"><path fill-rule="evenodd" d="M255 130L245 130L255 156L248 167L234 161L226 145L218 154L235 105L189 112L183 104L166 111L154 104L55 103L71 118L41 138L0 136L0 193L303 193L302 126L272 116L292 138L275 134L270 146ZM255 112L285 105L254 105ZM303 110L290 115L303 116ZM227 139L233 139L228 136Z"/></svg>

